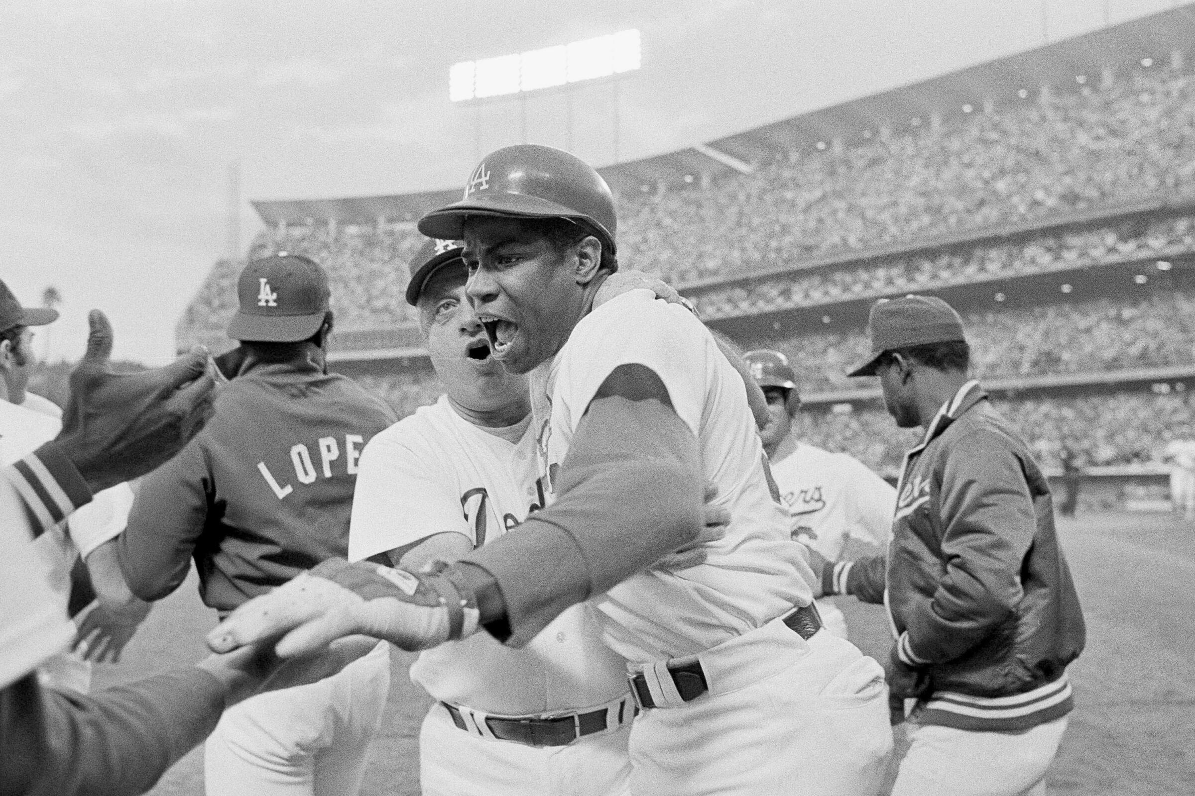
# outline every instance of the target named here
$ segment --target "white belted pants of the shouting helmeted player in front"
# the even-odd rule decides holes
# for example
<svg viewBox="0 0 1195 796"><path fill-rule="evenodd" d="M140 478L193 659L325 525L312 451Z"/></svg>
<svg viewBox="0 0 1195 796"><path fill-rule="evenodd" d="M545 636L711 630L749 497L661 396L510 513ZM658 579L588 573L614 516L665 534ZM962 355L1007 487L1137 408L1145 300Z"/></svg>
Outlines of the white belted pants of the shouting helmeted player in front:
<svg viewBox="0 0 1195 796"><path fill-rule="evenodd" d="M875 660L826 630L805 641L779 619L698 659L710 690L644 710L631 727L632 794L878 792L893 735Z"/></svg>

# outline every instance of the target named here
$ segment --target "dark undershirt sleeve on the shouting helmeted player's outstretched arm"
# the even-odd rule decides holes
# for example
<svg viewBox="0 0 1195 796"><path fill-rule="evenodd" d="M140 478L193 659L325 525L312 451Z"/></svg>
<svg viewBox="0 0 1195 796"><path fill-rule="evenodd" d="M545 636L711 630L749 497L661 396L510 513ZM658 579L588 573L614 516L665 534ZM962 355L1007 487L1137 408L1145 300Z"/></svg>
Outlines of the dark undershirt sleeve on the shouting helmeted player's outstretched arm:
<svg viewBox="0 0 1195 796"><path fill-rule="evenodd" d="M670 407L595 400L560 465L558 500L456 564L479 596L482 624L527 643L564 609L692 542L703 490L697 439ZM482 599L495 591L498 616Z"/></svg>

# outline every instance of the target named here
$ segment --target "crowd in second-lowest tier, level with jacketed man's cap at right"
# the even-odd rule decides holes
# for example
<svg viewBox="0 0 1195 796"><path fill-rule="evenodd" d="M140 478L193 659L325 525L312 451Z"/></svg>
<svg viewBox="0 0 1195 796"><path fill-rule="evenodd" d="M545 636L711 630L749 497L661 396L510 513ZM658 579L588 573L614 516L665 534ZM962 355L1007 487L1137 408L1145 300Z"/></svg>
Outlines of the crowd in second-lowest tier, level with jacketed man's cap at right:
<svg viewBox="0 0 1195 796"><path fill-rule="evenodd" d="M979 378L1018 378L1195 364L1195 292L1169 289L1139 297L963 313ZM804 393L858 389L847 378L870 350L865 329L753 340L796 365Z"/></svg>

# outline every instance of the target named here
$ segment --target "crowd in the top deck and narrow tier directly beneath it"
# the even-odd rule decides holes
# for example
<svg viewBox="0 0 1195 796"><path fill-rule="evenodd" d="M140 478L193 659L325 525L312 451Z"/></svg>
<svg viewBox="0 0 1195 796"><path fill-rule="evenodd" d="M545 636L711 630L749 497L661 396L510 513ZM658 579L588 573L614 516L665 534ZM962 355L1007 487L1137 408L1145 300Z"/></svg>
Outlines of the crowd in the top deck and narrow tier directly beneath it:
<svg viewBox="0 0 1195 796"><path fill-rule="evenodd" d="M629 195L619 205L624 264L676 284L911 243L968 229L1195 191L1195 78L1154 67L901 132L793 153L709 186ZM1193 237L1191 220L1145 235L1097 229L985 246L963 254L820 270L697 296L709 317L1086 264L1164 251ZM413 229L384 224L292 227L258 236L250 257L287 249L329 269L342 327L411 320L402 290L418 246ZM1188 246L1190 241L1188 241ZM222 328L237 265L217 264L183 323ZM180 332L182 332L180 325Z"/></svg>

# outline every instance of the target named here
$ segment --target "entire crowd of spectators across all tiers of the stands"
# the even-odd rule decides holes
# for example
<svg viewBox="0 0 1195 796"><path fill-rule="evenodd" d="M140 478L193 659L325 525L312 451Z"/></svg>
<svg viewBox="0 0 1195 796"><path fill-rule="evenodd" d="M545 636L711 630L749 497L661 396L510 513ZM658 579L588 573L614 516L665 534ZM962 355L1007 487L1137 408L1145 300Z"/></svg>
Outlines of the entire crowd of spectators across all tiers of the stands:
<svg viewBox="0 0 1195 796"><path fill-rule="evenodd" d="M1046 221L1158 196L1195 193L1195 78L1176 68L1120 74L960 113L902 131L792 153L756 172L711 185L620 197L625 267L678 285L825 258L858 259L968 230ZM987 234L987 233L983 233ZM411 226L319 223L263 233L249 257L306 254L329 271L341 329L410 325L406 264L421 239ZM851 298L924 291L1018 274L1164 258L1195 249L1195 216L1123 220L1031 236L987 237L931 254L797 270L750 284L695 288L707 320ZM243 263L221 261L179 322L179 341L222 334L235 309ZM966 316L975 371L983 378L1195 363L1195 295L1043 304ZM866 350L862 329L768 341L802 368L802 389L859 387L842 376ZM363 377L400 414L429 403L440 385L423 370ZM1154 461L1175 428L1195 422L1183 394L1123 393L1021 400L1006 409L1047 458L1073 437L1089 464ZM819 411L810 439L891 471L915 432L878 408Z"/></svg>

